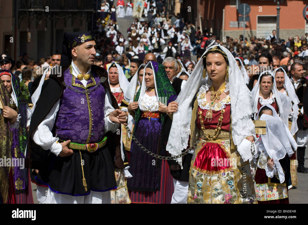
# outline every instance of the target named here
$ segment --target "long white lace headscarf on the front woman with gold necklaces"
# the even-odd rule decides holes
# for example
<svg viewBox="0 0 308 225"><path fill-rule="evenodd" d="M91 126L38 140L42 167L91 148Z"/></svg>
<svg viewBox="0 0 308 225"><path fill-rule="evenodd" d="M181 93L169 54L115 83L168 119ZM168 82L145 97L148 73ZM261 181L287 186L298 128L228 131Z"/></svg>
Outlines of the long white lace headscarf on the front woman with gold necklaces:
<svg viewBox="0 0 308 225"><path fill-rule="evenodd" d="M228 57L228 85L230 89L229 96L231 99L232 138L234 144L237 145L237 150L244 161L246 161L251 158L251 144L245 138L249 135L253 135L256 138L255 126L251 117L253 113L257 112L257 107L251 92L245 84L236 60L227 48L220 45L213 45L207 49L203 56L209 51L209 49L216 46L219 46ZM196 67L186 81L184 89L182 89L176 99L179 107L178 111L173 114L171 131L166 147L167 151L173 156L181 154L182 150L187 148L194 96L202 85L208 85L207 81L209 80L209 76L206 75L205 81L202 79L202 71L204 69L203 56L196 64ZM211 87L212 83L208 86ZM182 165L181 157L177 158L176 161Z"/></svg>

